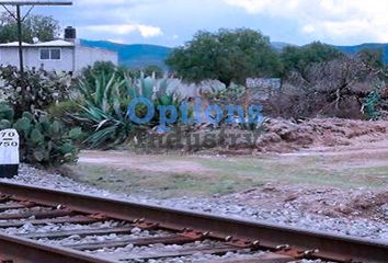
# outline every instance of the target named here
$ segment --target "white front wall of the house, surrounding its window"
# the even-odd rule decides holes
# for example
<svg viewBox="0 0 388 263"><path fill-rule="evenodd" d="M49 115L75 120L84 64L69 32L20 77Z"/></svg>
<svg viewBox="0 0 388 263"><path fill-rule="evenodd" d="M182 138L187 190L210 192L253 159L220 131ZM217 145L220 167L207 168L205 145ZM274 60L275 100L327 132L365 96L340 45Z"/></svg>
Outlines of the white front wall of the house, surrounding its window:
<svg viewBox="0 0 388 263"><path fill-rule="evenodd" d="M72 47L61 47L60 60L41 60L39 48L25 47L23 49L24 66L26 68L41 68L45 70L62 70L73 71L73 53ZM19 50L18 47L0 48L0 64L15 66L19 68Z"/></svg>

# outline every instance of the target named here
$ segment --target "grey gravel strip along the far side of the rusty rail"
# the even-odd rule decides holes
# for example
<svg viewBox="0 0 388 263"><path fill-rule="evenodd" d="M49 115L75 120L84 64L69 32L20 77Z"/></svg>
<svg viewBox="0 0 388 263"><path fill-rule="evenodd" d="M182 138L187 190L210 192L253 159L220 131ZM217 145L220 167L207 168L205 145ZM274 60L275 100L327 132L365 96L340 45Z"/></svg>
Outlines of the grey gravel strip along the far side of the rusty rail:
<svg viewBox="0 0 388 263"><path fill-rule="evenodd" d="M388 242L388 225L384 220L369 219L347 219L344 217L329 217L312 215L300 211L293 205L284 205L277 209L260 209L249 205L235 203L230 198L193 198L181 197L170 199L151 199L145 196L132 196L112 194L104 190L98 190L89 185L80 184L71 179L59 174L48 173L46 171L34 169L30 165L20 167L20 175L8 182L26 183L36 186L52 187L57 190L70 191L81 194L92 194L102 197L122 198L130 202L155 204L173 207L178 209L190 209L195 211L205 211L220 216L236 217L243 219L264 220L272 224L287 225L310 230L320 230L338 232L362 238L379 239Z"/></svg>

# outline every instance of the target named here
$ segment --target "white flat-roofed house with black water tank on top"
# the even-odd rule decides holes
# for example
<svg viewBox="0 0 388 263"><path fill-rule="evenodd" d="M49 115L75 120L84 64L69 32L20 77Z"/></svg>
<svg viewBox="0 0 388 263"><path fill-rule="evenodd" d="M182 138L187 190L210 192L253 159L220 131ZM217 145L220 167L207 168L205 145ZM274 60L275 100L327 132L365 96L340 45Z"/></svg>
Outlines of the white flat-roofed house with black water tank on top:
<svg viewBox="0 0 388 263"><path fill-rule="evenodd" d="M67 28L69 30L69 27ZM73 28L71 28L73 30ZM65 33L66 34L66 33ZM102 48L91 48L79 44L73 38L27 44L23 43L23 59L26 68L43 68L45 70L60 70L77 75L87 66L95 61L112 61L118 64L117 53ZM0 44L0 65L19 68L19 43Z"/></svg>

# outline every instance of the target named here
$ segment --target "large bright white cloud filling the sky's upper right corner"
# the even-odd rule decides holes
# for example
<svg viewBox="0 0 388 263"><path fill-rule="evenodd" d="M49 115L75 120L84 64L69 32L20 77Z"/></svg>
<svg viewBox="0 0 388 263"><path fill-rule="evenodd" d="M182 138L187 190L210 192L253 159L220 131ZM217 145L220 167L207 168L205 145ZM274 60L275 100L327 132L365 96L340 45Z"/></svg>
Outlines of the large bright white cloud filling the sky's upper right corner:
<svg viewBox="0 0 388 263"><path fill-rule="evenodd" d="M388 1L224 0L250 14L296 20L303 34L350 42L388 42Z"/></svg>

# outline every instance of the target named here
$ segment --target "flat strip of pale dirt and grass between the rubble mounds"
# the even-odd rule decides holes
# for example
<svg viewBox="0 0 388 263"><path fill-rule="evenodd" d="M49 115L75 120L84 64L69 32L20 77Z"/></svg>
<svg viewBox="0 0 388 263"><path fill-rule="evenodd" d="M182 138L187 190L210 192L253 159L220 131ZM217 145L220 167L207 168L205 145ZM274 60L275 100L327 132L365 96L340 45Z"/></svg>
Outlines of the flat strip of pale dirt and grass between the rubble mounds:
<svg viewBox="0 0 388 263"><path fill-rule="evenodd" d="M388 140L242 157L84 151L69 168L79 181L158 198L229 194L267 183L383 190L388 187Z"/></svg>

